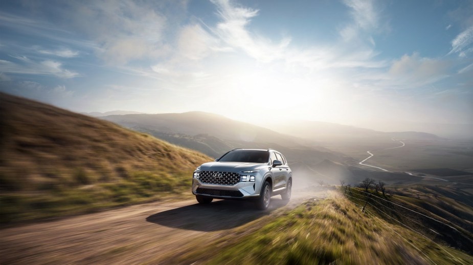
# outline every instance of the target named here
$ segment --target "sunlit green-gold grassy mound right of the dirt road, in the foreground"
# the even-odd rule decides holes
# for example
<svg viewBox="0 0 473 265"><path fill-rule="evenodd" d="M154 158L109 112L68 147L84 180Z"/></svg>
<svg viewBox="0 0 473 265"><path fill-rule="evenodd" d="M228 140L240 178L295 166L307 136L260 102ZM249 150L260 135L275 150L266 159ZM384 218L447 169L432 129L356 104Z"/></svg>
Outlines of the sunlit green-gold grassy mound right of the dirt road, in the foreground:
<svg viewBox="0 0 473 265"><path fill-rule="evenodd" d="M191 246L170 263L195 264L470 264L472 256L437 245L360 208L341 195L282 211L251 229L250 223ZM201 246L201 245L200 245Z"/></svg>

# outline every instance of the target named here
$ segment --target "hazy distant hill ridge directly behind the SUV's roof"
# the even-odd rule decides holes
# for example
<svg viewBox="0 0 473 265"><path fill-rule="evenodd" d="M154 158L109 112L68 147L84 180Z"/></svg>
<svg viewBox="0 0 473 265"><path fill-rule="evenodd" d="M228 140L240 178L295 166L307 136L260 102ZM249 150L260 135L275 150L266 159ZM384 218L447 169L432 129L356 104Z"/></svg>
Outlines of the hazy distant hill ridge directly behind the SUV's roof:
<svg viewBox="0 0 473 265"><path fill-rule="evenodd" d="M217 154L217 157L228 151L229 147L283 147L327 154L332 152L313 141L206 112L112 115L101 119L163 137L174 144L196 148L208 155ZM209 148L212 150L208 151Z"/></svg>

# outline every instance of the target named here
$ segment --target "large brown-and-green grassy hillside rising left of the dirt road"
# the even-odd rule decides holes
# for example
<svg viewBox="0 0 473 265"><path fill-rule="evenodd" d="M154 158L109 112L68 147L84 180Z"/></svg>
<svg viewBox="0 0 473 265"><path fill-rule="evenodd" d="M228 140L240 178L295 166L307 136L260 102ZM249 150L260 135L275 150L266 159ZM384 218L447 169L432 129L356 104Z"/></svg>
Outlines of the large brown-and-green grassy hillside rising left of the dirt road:
<svg viewBox="0 0 473 265"><path fill-rule="evenodd" d="M159 199L189 190L212 158L116 124L0 94L1 219Z"/></svg>

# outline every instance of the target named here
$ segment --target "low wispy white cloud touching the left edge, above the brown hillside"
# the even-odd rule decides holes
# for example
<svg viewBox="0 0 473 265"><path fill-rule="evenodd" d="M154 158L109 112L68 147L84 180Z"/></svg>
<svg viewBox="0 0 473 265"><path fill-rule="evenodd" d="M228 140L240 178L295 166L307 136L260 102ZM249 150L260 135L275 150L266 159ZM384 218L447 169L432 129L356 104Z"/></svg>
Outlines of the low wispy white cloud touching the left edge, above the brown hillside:
<svg viewBox="0 0 473 265"><path fill-rule="evenodd" d="M64 69L62 63L56 61L33 61L24 56L13 56L19 63L0 60L0 72L19 74L53 75L60 78L73 78L78 73Z"/></svg>

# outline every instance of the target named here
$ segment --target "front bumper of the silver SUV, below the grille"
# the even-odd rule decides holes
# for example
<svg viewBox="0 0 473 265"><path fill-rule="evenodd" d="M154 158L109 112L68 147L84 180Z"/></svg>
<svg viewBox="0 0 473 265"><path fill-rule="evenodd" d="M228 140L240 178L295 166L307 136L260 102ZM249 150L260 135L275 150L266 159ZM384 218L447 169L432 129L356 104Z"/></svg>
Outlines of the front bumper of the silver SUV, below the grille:
<svg viewBox="0 0 473 265"><path fill-rule="evenodd" d="M192 179L192 194L215 199L257 199L259 187L256 182L238 182L235 185L218 185ZM258 192L257 192L258 191Z"/></svg>

